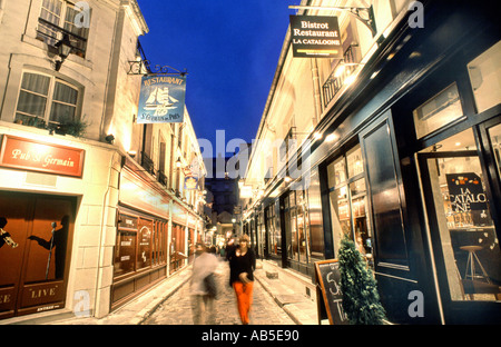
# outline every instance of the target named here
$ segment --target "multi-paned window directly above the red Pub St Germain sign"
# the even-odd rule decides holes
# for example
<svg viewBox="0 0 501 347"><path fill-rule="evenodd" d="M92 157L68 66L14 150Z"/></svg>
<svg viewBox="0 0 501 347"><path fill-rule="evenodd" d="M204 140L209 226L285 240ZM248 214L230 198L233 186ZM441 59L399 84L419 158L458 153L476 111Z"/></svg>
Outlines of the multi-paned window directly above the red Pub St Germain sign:
<svg viewBox="0 0 501 347"><path fill-rule="evenodd" d="M78 89L51 76L24 72L16 109L16 122L57 128L77 121Z"/></svg>

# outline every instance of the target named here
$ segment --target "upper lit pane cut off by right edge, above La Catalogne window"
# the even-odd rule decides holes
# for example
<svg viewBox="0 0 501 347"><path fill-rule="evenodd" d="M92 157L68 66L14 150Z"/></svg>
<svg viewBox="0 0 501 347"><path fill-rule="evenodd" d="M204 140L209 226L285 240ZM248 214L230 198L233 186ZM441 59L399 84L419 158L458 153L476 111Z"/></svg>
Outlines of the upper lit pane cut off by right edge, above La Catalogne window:
<svg viewBox="0 0 501 347"><path fill-rule="evenodd" d="M479 112L501 102L501 41L468 65Z"/></svg>

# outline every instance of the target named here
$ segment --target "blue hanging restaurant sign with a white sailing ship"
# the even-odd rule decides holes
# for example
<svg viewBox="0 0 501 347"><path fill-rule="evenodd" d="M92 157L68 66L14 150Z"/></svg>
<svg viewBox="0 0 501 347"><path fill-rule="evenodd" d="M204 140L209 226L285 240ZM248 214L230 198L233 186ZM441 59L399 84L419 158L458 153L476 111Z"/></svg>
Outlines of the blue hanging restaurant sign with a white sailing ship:
<svg viewBox="0 0 501 347"><path fill-rule="evenodd" d="M185 76L144 76L137 122L183 122L185 93Z"/></svg>

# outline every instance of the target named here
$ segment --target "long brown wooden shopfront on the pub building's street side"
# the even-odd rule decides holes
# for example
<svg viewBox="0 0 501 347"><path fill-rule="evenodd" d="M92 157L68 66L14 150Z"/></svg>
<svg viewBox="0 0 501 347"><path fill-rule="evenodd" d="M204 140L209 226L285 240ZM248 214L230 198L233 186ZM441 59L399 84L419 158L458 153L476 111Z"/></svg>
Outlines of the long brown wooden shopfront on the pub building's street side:
<svg viewBox="0 0 501 347"><path fill-rule="evenodd" d="M143 170L127 161L120 174L111 309L122 306L185 265L186 211ZM170 230L170 240L169 240ZM170 247L170 249L168 249Z"/></svg>

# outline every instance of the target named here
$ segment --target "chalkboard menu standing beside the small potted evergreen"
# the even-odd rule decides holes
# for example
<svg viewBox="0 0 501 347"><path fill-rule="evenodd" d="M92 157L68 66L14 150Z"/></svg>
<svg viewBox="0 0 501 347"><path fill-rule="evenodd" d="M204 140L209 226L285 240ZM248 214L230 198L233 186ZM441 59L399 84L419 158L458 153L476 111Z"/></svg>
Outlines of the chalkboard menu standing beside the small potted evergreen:
<svg viewBox="0 0 501 347"><path fill-rule="evenodd" d="M341 291L341 272L337 259L315 262L315 275L318 324L325 318L328 318L328 323L333 325L348 324L343 310L343 293Z"/></svg>

